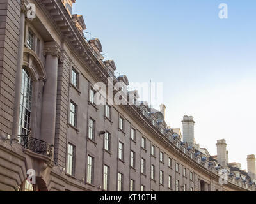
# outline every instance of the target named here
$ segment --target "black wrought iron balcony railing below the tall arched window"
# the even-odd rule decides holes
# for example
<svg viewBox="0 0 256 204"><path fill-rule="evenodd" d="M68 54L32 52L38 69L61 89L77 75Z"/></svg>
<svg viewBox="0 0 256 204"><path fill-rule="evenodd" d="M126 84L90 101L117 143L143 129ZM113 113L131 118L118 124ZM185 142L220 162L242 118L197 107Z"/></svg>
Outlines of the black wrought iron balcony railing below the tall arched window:
<svg viewBox="0 0 256 204"><path fill-rule="evenodd" d="M38 140L31 136L19 136L20 145L25 149L35 152L36 154L42 154L52 159L53 156L53 145L50 145L47 142Z"/></svg>

